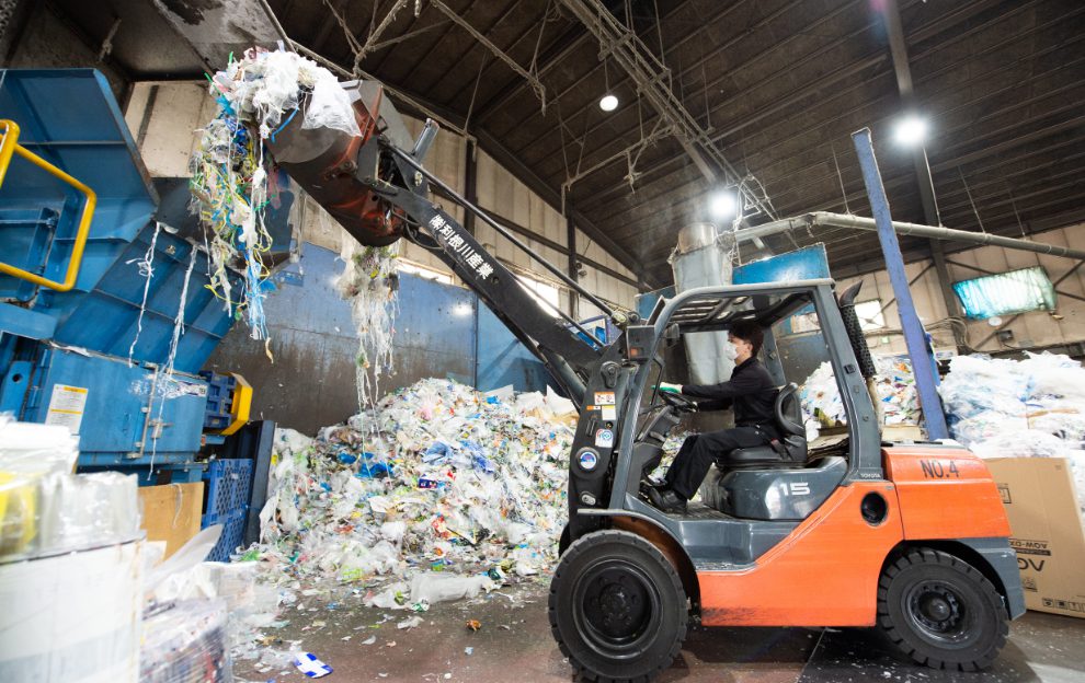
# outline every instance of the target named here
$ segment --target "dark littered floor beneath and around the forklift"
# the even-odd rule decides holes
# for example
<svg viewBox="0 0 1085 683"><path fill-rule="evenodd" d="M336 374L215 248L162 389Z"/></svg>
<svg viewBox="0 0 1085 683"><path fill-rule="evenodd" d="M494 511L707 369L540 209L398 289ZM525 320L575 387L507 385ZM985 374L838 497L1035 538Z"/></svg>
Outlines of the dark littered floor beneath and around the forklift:
<svg viewBox="0 0 1085 683"><path fill-rule="evenodd" d="M570 683L572 670L550 636L546 595L546 583L540 582L476 601L436 604L422 615L422 626L408 630L398 629L396 623L412 616L410 612L366 609L350 593L324 594L306 599L306 611L288 610L281 615L290 621L288 625L264 633L275 639L273 647L300 640L301 649L332 667L334 672L322 679L329 683ZM357 606L347 606L352 602ZM468 620L481 622L481 628L471 632ZM370 636L376 641L364 645ZM465 648L472 650L467 653ZM293 667L260 673L253 664L236 662L236 676L260 683L307 680ZM659 681L1076 683L1085 681L1085 620L1029 612L1012 624L1009 643L995 664L975 674L948 674L904 663L864 630L696 626Z"/></svg>

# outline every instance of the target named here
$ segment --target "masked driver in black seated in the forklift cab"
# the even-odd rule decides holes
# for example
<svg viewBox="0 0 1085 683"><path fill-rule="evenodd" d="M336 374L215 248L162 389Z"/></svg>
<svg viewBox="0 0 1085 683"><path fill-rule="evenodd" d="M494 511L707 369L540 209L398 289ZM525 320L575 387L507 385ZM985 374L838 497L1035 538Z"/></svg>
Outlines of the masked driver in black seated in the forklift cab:
<svg viewBox="0 0 1085 683"><path fill-rule="evenodd" d="M661 510L684 512L686 501L697 491L713 461L722 466L724 458L734 449L766 445L779 439L774 413L776 385L768 370L757 360L764 338L765 333L757 323L740 321L728 331L728 342L736 351L730 380L719 384L660 384L660 391L705 400L698 403L700 409L733 407L735 425L733 429L686 438L663 485L650 490L652 502Z"/></svg>

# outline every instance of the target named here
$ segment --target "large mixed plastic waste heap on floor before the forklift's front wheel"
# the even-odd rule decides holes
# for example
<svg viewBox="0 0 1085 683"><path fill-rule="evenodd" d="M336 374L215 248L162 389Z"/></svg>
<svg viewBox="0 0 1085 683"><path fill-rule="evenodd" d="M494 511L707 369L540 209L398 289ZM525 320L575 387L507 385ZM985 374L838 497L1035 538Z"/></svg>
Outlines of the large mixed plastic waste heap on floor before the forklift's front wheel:
<svg viewBox="0 0 1085 683"><path fill-rule="evenodd" d="M392 580L365 603L418 611L546 571L571 415L557 395L426 379L315 439L277 430L261 543L242 557L287 579Z"/></svg>

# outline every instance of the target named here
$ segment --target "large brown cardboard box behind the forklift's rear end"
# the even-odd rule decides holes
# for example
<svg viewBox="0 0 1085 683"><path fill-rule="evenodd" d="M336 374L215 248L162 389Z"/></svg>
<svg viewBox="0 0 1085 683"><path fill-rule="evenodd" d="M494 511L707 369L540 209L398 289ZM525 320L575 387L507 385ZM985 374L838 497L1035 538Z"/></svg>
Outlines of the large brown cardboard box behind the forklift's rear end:
<svg viewBox="0 0 1085 683"><path fill-rule="evenodd" d="M1064 458L987 460L1029 610L1085 618L1085 531Z"/></svg>

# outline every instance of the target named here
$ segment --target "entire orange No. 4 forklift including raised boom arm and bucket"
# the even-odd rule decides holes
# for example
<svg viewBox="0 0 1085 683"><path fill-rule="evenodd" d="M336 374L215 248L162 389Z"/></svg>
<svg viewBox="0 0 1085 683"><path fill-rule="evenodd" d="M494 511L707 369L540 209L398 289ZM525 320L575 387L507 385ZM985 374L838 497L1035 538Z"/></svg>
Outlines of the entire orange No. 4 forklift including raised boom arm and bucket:
<svg viewBox="0 0 1085 683"><path fill-rule="evenodd" d="M446 263L580 412L549 601L553 636L580 674L654 678L677 655L692 615L708 626L877 626L920 663L991 663L1006 622L1024 612L998 493L983 462L957 444L881 441L857 289L840 299L831 280L694 289L660 300L640 324L429 172L436 124L412 139L379 83L343 88L362 135L307 129L295 117L266 142L275 164L361 243L406 239ZM545 310L434 195L538 261L621 336L599 340ZM789 368L777 344L797 315L816 319L814 335L800 336L830 363L846 422L845 433L811 443L788 383L809 368ZM784 387L776 418L785 437L778 448L733 451L722 476L703 487L704 502L663 512L649 502L648 476L667 435L697 409L654 389L663 351L738 321L766 329L762 357Z"/></svg>

